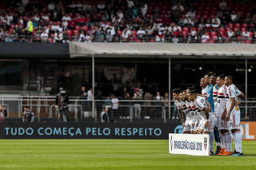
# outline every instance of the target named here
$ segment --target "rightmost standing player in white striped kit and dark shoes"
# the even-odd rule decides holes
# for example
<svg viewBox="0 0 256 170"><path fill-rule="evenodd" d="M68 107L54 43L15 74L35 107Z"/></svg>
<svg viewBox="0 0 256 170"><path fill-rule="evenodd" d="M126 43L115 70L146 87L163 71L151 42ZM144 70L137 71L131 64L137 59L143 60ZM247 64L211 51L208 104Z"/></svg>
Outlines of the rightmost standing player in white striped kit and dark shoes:
<svg viewBox="0 0 256 170"><path fill-rule="evenodd" d="M235 150L232 156L243 156L238 98L243 98L244 94L234 85L233 81L234 77L232 76L226 76L224 80L228 94L228 98L226 98L226 121L228 121L228 129L234 138Z"/></svg>

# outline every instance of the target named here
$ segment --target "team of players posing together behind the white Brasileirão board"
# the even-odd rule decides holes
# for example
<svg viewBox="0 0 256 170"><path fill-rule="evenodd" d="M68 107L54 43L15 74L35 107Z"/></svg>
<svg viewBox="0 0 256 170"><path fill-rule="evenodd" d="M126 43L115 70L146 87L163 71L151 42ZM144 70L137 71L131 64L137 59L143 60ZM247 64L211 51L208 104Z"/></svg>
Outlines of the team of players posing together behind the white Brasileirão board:
<svg viewBox="0 0 256 170"><path fill-rule="evenodd" d="M215 139L215 155L243 156L238 105L244 94L233 81L232 76L206 73L200 81L202 93L197 93L190 87L183 91L172 91L182 121L183 133L209 134L210 155L214 155Z"/></svg>

